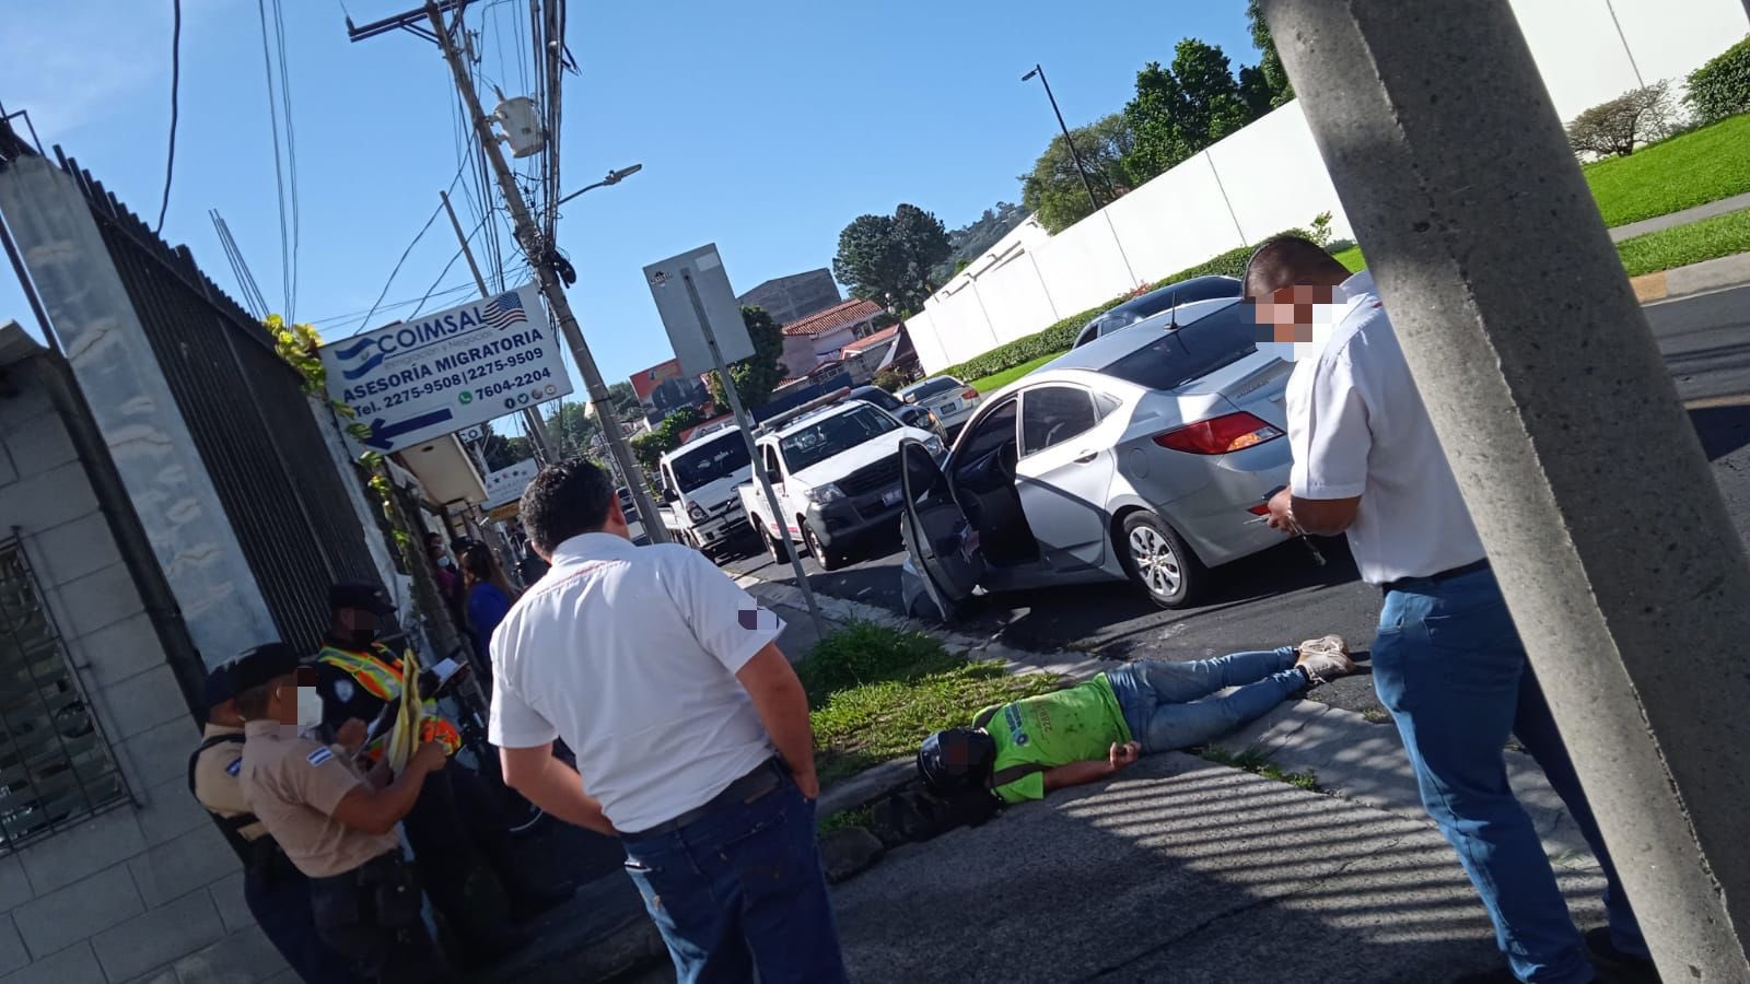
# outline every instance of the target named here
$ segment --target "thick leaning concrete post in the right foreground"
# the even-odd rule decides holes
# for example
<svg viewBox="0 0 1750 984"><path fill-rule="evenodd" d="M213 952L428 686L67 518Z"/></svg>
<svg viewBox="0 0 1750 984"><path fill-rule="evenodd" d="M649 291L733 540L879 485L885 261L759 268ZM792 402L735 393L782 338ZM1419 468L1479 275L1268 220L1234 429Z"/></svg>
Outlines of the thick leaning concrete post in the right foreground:
<svg viewBox="0 0 1750 984"><path fill-rule="evenodd" d="M1750 980L1750 566L1507 0L1264 0L1666 980Z"/></svg>

